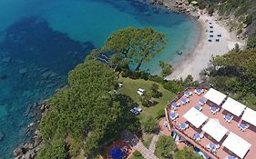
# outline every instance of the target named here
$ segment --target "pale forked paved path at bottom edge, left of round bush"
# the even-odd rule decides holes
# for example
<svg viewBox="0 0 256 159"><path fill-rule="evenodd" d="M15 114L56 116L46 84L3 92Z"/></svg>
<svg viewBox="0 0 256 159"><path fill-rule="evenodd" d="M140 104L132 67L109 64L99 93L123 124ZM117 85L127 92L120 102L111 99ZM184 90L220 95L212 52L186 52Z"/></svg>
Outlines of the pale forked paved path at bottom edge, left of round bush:
<svg viewBox="0 0 256 159"><path fill-rule="evenodd" d="M154 139L155 138L155 139ZM158 141L158 136L153 137L155 142L151 142L154 144L150 144L149 149L147 149L142 143L141 141L138 139L138 137L135 134L132 134L130 132L124 132L123 134L123 139L125 140L125 142L127 142L128 144L130 144L135 150L138 150L138 152L140 154L142 154L142 156L146 159L159 159L155 154L155 147L153 147L154 145L156 145L156 142ZM153 141L152 139L152 141ZM152 151L153 150L153 151Z"/></svg>

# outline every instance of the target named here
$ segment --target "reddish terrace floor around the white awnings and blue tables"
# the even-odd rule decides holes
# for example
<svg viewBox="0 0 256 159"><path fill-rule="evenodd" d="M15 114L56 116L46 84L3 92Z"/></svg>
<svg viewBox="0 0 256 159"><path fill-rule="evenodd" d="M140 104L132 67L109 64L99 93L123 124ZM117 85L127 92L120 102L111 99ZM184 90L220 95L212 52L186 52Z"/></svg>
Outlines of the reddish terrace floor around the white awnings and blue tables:
<svg viewBox="0 0 256 159"><path fill-rule="evenodd" d="M250 147L249 151L247 152L247 154L245 154L244 158L245 159L255 159L256 127L254 125L250 124L250 127L247 128L244 132L241 131L238 125L241 123L242 124L249 124L249 123L246 123L245 121L243 121L241 119L241 116L238 117L235 114L231 114L227 110L223 109L220 105L218 105L218 104L222 103L220 98L224 99L225 98L224 95L220 94L219 95L220 98L217 101L215 101L215 103L218 103L218 104L214 104L214 103L210 102L210 100L208 100L207 98L204 97L204 94L207 94L207 92L208 92L207 90L204 90L204 92L202 94L197 94L196 93L197 91L195 91L195 89L193 89L193 88L189 89L188 91L192 93L189 96L189 103L186 103L184 105L181 104L180 99L186 97L183 93L179 94L178 98L175 101L173 101L173 102L177 102L180 104L178 109L175 110L175 113L179 114L179 117L177 117L175 120L171 120L169 118L169 124L172 124L170 126L173 126L174 129L176 130L176 132L178 132L179 134L182 134L182 136L184 136L186 138L186 140L188 140L191 144L196 145L204 153L209 154L212 158L220 158L220 159L225 158L229 155L237 156L236 154L232 153L228 148L226 148L222 145L223 142L228 137L228 135L230 134L230 132L232 132L233 134L237 134L243 140L245 140L249 144L251 144L251 147ZM219 134L211 134L213 136L210 136L210 134L207 134L206 132L202 131L202 127L205 125L205 123L202 124L199 128L197 128L198 124L196 127L192 123L189 123L189 121L183 117L183 115L186 114L187 112L189 112L189 110L192 107L199 105L200 101L202 101L202 100L204 100L206 103L201 104L200 113L208 116L209 119L215 121L217 124L219 123L220 125L222 125L223 129L227 129L227 131L222 131L221 135L223 135L223 136L219 136L218 141L216 141L216 139L214 139L213 137L214 137L214 135L218 136ZM215 106L217 109L219 109L219 111L217 111L215 114L213 114L210 110L211 106ZM171 110L173 110L173 109L169 105L167 112L170 112ZM232 115L232 118L230 119L230 123L227 122L225 120L225 118L223 117L227 114ZM189 124L189 127L186 128L185 130L180 130L179 124L181 124L181 123ZM214 130L211 130L211 131L214 131ZM196 141L194 139L194 134L196 134L196 133L204 134L204 137L202 137L200 140ZM211 152L207 148L207 145L211 144L211 143L216 144L216 145L220 144L220 148L216 148L216 150L214 152Z"/></svg>

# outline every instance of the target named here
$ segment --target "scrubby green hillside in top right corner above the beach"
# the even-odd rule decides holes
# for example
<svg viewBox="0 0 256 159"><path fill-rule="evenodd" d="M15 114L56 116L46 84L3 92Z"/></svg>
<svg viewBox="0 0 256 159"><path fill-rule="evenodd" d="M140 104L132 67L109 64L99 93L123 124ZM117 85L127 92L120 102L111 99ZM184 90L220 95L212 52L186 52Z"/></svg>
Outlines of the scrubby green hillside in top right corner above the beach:
<svg viewBox="0 0 256 159"><path fill-rule="evenodd" d="M192 1L192 0L189 0ZM248 48L256 46L256 1L255 0L198 0L201 8L207 8L210 15L214 9L219 15L230 18L234 29L247 27L245 34L249 35ZM232 24L230 23L230 24Z"/></svg>

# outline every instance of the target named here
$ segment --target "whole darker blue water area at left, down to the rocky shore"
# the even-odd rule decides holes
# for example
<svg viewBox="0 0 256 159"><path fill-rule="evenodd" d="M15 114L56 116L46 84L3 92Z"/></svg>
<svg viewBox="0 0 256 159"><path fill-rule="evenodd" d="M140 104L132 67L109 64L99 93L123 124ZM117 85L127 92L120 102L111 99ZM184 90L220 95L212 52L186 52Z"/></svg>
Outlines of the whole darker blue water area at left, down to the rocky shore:
<svg viewBox="0 0 256 159"><path fill-rule="evenodd" d="M0 43L0 158L29 139L27 124L35 120L31 106L67 83L67 73L94 48L53 31L47 22L28 17L5 30ZM3 153L5 152L5 153Z"/></svg>

